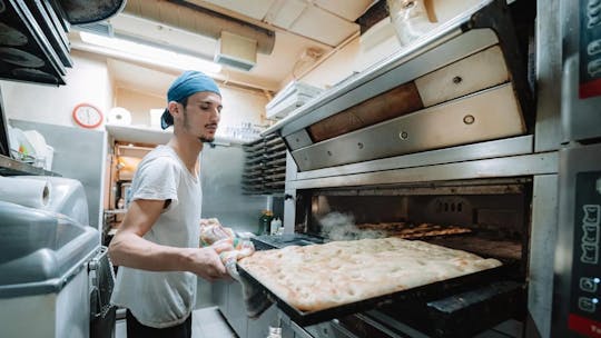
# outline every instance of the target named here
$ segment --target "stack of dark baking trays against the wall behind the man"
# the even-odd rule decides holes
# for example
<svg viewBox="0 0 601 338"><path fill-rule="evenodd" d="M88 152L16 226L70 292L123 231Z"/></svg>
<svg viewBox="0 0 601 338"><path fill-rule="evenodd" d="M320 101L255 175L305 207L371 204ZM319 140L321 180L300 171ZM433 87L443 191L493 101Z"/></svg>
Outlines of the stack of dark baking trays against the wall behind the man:
<svg viewBox="0 0 601 338"><path fill-rule="evenodd" d="M284 192L286 146L277 135L243 145L246 152L243 191L248 195Z"/></svg>

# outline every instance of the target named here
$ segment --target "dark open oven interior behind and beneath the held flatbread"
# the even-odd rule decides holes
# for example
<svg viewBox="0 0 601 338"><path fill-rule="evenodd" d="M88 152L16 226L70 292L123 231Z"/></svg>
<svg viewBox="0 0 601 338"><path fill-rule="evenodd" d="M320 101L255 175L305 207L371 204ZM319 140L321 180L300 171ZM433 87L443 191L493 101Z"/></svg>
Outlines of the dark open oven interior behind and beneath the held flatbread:
<svg viewBox="0 0 601 338"><path fill-rule="evenodd" d="M496 258L508 267L442 295L387 302L307 330L314 337L331 337L324 330L405 337L398 329L404 327L431 337L470 337L510 319L522 321L531 191L529 177L297 190L298 233L326 241L397 236Z"/></svg>

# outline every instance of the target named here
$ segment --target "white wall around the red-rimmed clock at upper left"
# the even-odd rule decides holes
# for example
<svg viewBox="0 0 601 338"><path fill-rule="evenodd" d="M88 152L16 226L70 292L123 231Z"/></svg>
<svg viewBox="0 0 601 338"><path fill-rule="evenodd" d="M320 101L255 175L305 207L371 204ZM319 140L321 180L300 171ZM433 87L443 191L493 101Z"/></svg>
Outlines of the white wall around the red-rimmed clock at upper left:
<svg viewBox="0 0 601 338"><path fill-rule="evenodd" d="M91 103L106 113L112 102L106 60L75 50L71 57L73 68L67 69L66 86L0 80L7 118L75 127L71 113L81 102Z"/></svg>

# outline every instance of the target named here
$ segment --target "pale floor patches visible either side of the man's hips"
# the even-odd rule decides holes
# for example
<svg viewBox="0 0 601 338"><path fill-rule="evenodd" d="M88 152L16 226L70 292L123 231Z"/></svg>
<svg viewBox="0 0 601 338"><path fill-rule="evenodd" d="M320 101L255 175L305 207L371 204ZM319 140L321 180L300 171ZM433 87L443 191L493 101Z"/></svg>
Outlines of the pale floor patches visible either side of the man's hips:
<svg viewBox="0 0 601 338"><path fill-rule="evenodd" d="M217 307L193 312L193 338L237 338ZM127 338L126 320L117 320L115 338Z"/></svg>

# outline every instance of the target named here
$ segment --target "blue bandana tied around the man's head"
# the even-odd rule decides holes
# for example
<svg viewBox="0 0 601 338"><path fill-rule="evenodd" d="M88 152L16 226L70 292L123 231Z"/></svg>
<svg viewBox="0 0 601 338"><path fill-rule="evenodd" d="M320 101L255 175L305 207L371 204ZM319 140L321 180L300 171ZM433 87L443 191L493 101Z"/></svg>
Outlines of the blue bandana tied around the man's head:
<svg viewBox="0 0 601 338"><path fill-rule="evenodd" d="M185 71L174 81L174 83L171 83L171 87L169 87L169 90L167 91L167 105L169 105L170 101L179 102L200 91L210 91L221 96L219 88L211 78L199 71ZM169 113L169 109L166 108L160 118L160 128L166 129L171 125L174 125L174 117Z"/></svg>

